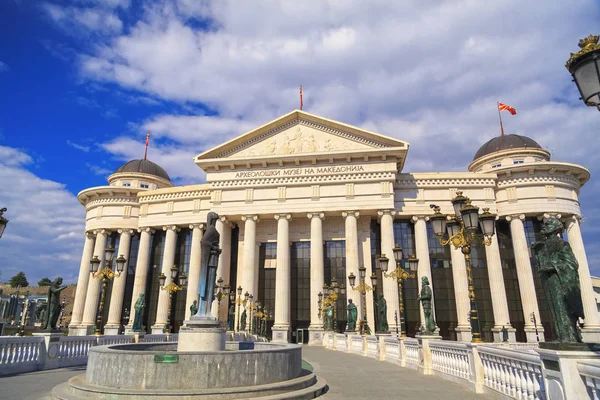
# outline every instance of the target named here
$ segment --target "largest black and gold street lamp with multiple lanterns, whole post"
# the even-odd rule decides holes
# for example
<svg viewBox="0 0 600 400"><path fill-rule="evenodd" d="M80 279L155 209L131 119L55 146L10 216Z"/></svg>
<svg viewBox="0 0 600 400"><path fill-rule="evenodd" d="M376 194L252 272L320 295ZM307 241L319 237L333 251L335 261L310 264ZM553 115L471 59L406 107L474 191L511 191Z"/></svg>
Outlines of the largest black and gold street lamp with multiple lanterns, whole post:
<svg viewBox="0 0 600 400"><path fill-rule="evenodd" d="M454 216L446 216L441 213L440 207L431 204L434 214L430 217L433 232L442 246L452 245L455 249L461 249L465 256L465 266L467 269L467 279L469 282L469 301L471 305L470 322L471 335L474 343L481 342L481 329L479 326L479 314L477 312L477 303L475 302L475 287L473 286L473 275L471 273L471 246L475 243L475 232L477 228L483 233L482 243L486 246L492 244L494 236L496 215L490 213L489 208L484 208L483 213L479 214L479 207L471 204L471 200L462 195L462 192L456 192L456 197L452 199L454 207ZM448 239L445 239L448 235Z"/></svg>

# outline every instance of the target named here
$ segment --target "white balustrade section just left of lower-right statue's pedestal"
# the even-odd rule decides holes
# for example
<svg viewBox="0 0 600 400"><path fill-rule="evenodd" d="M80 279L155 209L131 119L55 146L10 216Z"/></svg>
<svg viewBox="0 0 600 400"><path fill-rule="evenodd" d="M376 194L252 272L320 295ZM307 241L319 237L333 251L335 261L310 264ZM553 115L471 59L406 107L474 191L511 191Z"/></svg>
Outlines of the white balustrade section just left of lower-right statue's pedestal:
<svg viewBox="0 0 600 400"><path fill-rule="evenodd" d="M514 399L545 399L540 356L480 345L484 386Z"/></svg>

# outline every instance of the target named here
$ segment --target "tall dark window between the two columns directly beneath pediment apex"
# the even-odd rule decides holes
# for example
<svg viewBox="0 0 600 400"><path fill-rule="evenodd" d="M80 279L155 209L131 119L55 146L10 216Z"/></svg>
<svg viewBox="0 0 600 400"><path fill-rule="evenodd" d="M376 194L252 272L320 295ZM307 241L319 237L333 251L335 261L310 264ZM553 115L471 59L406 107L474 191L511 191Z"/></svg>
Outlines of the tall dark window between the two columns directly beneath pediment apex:
<svg viewBox="0 0 600 400"><path fill-rule="evenodd" d="M292 331L310 325L310 242L294 242L290 252L292 272ZM315 304L314 307L317 305Z"/></svg>

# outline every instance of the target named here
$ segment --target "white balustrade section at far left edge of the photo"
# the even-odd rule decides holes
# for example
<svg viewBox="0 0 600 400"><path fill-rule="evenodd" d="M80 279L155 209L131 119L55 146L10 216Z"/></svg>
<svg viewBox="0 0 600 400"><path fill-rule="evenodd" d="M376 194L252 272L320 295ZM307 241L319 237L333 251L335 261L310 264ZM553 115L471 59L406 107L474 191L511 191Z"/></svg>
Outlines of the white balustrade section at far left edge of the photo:
<svg viewBox="0 0 600 400"><path fill-rule="evenodd" d="M46 356L41 337L0 337L0 376L35 371Z"/></svg>

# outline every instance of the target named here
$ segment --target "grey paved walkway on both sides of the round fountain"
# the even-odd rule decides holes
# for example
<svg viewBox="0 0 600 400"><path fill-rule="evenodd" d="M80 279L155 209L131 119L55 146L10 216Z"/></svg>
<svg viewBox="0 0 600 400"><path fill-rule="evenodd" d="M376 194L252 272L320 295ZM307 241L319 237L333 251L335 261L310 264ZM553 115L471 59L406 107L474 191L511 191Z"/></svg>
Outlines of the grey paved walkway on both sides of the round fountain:
<svg viewBox="0 0 600 400"><path fill-rule="evenodd" d="M327 380L329 391L323 397L327 400L490 398L435 376L354 354L305 346L302 355L315 374ZM54 386L84 372L85 367L73 367L2 377L0 400L48 400Z"/></svg>

